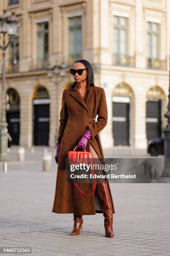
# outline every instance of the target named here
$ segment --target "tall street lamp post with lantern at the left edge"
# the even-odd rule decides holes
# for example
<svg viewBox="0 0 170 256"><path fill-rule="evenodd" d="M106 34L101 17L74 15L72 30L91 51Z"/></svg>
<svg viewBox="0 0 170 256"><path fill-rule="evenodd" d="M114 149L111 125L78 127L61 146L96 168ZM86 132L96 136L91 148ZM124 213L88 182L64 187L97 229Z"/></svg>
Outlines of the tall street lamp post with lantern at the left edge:
<svg viewBox="0 0 170 256"><path fill-rule="evenodd" d="M13 36L17 30L18 20L15 13L7 15L3 10L3 14L0 16L0 37L2 35L2 114L0 122L0 161L7 161L7 122L6 122L6 98L5 98L5 51L12 41ZM6 43L6 35L9 37Z"/></svg>

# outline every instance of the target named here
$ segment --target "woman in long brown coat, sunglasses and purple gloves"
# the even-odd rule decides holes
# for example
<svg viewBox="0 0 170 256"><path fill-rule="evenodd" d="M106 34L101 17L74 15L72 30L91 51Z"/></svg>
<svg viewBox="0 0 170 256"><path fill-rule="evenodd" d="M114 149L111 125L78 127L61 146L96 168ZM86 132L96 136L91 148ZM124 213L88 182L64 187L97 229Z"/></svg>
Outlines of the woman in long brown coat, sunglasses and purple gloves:
<svg viewBox="0 0 170 256"><path fill-rule="evenodd" d="M57 136L55 161L57 180L52 212L73 213L74 227L70 235L82 232L82 215L103 213L105 236L112 238L113 213L115 213L109 183L97 183L95 193L83 197L73 183L66 183L65 158L68 152L78 146L82 151L90 151L92 159L104 158L99 132L107 124L107 102L105 90L95 86L90 62L75 61L71 74L75 82L62 93L62 108ZM97 122L95 118L97 117ZM91 184L79 184L80 189L89 194Z"/></svg>

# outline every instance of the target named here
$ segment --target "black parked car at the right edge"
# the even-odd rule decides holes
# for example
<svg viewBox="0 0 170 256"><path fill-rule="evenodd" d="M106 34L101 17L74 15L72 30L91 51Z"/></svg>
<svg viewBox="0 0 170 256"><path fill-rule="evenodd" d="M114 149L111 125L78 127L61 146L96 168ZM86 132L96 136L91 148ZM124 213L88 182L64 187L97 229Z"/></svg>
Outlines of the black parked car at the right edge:
<svg viewBox="0 0 170 256"><path fill-rule="evenodd" d="M158 156L164 154L164 138L154 138L148 141L148 153L151 156Z"/></svg>

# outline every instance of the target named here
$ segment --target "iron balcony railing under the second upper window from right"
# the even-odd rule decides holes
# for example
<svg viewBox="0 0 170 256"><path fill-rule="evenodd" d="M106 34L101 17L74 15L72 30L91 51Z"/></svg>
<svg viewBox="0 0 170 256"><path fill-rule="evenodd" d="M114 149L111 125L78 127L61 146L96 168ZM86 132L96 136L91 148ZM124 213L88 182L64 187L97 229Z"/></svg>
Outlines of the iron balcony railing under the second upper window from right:
<svg viewBox="0 0 170 256"><path fill-rule="evenodd" d="M135 56L129 56L128 54L113 54L113 65L135 67Z"/></svg>

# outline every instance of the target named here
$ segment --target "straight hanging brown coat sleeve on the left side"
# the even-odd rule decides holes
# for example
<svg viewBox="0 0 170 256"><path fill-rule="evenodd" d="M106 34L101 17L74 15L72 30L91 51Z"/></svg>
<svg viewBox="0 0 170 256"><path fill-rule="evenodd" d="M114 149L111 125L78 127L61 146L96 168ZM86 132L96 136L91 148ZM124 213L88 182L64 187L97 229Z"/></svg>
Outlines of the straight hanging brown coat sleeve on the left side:
<svg viewBox="0 0 170 256"><path fill-rule="evenodd" d="M58 136L57 136L57 141L62 140L62 135L64 133L65 130L65 126L67 124L67 118L68 118L68 113L67 113L67 105L65 102L65 90L62 92L62 107L61 107L61 111L60 111L60 125L58 128Z"/></svg>

